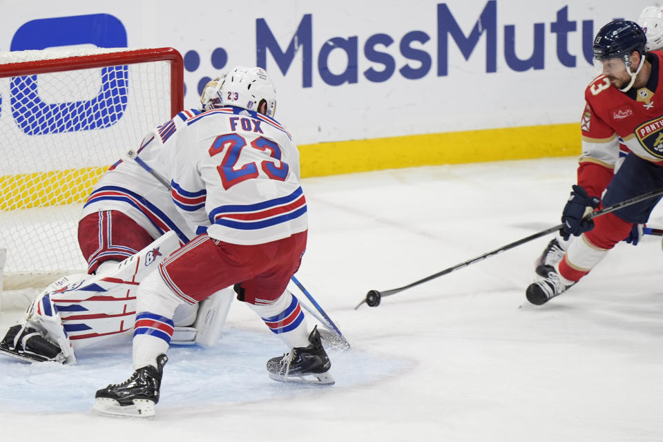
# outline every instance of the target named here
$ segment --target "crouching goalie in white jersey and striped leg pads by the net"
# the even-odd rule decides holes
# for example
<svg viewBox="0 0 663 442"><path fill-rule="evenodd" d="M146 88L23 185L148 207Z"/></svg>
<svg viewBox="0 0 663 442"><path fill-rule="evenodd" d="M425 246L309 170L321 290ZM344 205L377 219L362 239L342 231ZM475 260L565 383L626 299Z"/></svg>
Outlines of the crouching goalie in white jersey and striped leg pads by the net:
<svg viewBox="0 0 663 442"><path fill-rule="evenodd" d="M203 111L213 106L205 93L201 101ZM148 133L137 149L144 165L163 170L164 146L174 143L177 128L201 112L182 111ZM195 204L202 206L204 195ZM209 224L203 221L201 229ZM164 233L169 235L164 238ZM0 341L0 353L28 361L73 363L75 350L131 332L137 285L194 236L168 187L131 158L113 164L81 213L78 238L88 274L61 278L37 296L26 320L11 327ZM205 300L200 315L198 304L182 305L175 315L174 341L214 345L232 298L231 289L220 291Z"/></svg>

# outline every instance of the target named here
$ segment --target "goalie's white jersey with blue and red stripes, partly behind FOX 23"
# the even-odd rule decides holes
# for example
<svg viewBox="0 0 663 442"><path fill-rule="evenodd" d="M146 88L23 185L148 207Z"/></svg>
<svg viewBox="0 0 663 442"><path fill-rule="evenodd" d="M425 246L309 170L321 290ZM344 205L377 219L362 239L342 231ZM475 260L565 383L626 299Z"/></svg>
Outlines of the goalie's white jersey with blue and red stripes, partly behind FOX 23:
<svg viewBox="0 0 663 442"><path fill-rule="evenodd" d="M182 111L154 128L137 149L140 159L164 175L167 164L164 146L175 144L178 128L186 126L186 120L198 114L200 111L195 109ZM119 160L104 173L88 196L80 218L107 210L122 211L153 238L172 230L184 244L195 236L195 230L186 224L173 204L170 190L134 160ZM209 224L206 219L202 223Z"/></svg>

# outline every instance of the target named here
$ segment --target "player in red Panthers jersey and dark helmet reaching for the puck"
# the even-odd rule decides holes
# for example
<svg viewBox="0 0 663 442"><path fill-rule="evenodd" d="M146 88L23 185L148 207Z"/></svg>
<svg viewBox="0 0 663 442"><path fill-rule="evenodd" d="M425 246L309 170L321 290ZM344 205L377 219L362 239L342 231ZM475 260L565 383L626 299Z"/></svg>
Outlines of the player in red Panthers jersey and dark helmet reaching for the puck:
<svg viewBox="0 0 663 442"><path fill-rule="evenodd" d="M585 276L633 226L648 220L660 198L595 221L583 220L585 215L663 187L663 100L655 96L663 87L663 52L646 51L645 33L633 21L606 24L597 33L593 51L602 74L585 90L578 179L562 213L563 235L580 238L543 280L528 287L527 298L536 305ZM620 138L631 152L614 173Z"/></svg>

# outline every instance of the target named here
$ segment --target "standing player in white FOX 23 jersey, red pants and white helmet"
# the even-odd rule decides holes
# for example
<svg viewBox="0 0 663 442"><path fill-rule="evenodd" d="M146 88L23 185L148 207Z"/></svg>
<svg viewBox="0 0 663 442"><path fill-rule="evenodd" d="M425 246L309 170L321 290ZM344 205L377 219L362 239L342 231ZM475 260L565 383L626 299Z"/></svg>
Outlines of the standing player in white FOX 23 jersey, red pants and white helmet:
<svg viewBox="0 0 663 442"><path fill-rule="evenodd" d="M202 210L187 211L206 233L167 257L138 289L133 339L135 372L124 383L97 391L93 410L149 417L159 400L173 312L234 285L290 349L267 362L278 381L332 384L329 357L300 304L286 290L307 239L307 205L299 154L276 120L276 93L262 68L233 68L218 88L223 107L186 122L169 149L173 198L205 194Z"/></svg>

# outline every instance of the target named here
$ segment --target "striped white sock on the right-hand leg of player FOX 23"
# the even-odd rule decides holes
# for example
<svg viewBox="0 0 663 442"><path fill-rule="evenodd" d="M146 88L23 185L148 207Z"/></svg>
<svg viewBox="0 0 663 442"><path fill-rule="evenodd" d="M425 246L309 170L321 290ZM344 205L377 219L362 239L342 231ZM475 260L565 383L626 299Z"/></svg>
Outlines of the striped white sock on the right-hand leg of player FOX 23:
<svg viewBox="0 0 663 442"><path fill-rule="evenodd" d="M309 331L299 301L289 291L267 305L249 304L288 348L307 347Z"/></svg>

